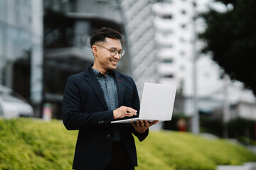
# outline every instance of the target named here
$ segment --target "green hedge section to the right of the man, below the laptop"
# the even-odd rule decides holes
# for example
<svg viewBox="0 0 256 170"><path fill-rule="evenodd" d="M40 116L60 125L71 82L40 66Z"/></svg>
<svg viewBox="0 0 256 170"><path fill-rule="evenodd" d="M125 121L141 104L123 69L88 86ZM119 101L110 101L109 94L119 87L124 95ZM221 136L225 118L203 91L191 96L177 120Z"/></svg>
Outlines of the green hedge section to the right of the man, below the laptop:
<svg viewBox="0 0 256 170"><path fill-rule="evenodd" d="M242 164L255 161L255 154L241 145L235 145L221 139L206 139L199 135L183 132L151 132L144 142L137 142L139 169L145 164L154 164L161 159L160 167L165 169L215 169L218 164ZM152 159L144 154L151 154ZM158 161L158 160L157 160ZM158 166L156 166L158 167Z"/></svg>

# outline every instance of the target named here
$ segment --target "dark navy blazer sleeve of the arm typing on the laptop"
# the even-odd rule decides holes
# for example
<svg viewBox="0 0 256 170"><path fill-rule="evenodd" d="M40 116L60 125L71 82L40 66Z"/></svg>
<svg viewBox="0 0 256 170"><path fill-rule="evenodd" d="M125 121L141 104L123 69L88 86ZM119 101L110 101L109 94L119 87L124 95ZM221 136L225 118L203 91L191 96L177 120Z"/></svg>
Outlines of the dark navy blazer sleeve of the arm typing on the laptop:
<svg viewBox="0 0 256 170"><path fill-rule="evenodd" d="M102 126L113 120L113 111L99 111L96 113L82 113L79 81L76 77L69 77L65 86L62 106L62 116L65 128L80 130L86 127Z"/></svg>

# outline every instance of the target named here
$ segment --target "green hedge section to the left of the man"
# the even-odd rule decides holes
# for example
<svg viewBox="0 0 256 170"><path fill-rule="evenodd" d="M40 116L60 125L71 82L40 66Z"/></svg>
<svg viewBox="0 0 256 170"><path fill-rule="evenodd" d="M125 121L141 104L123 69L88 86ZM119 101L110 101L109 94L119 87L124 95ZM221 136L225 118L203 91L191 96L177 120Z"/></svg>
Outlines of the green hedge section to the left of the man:
<svg viewBox="0 0 256 170"><path fill-rule="evenodd" d="M0 169L70 169L76 134L58 120L0 120Z"/></svg>

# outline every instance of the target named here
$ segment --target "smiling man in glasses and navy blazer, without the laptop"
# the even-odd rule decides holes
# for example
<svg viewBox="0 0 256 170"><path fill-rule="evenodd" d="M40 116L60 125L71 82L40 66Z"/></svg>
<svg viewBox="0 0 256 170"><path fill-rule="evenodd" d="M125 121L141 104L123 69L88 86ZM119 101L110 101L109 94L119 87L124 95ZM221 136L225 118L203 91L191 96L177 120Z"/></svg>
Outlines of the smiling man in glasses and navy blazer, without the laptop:
<svg viewBox="0 0 256 170"><path fill-rule="evenodd" d="M68 78L63 98L63 123L79 130L73 169L134 169L134 137L149 134L149 123L112 124L112 120L139 114L139 96L131 77L114 71L121 57L122 37L112 28L101 28L90 40L94 63Z"/></svg>

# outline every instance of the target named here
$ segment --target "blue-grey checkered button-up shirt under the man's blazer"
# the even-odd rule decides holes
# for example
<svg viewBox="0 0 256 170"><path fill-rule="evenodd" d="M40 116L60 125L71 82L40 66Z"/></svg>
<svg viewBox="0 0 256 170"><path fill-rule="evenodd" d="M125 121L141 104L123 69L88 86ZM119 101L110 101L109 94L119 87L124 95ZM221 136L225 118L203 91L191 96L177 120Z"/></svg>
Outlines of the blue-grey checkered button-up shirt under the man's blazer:
<svg viewBox="0 0 256 170"><path fill-rule="evenodd" d="M114 111L118 108L118 98L117 98L117 84L114 81L114 72L107 72L107 75L101 74L96 69L93 69L97 80L102 88L104 98L109 111ZM112 124L112 140L119 141L122 140L119 134L119 129L117 124Z"/></svg>

